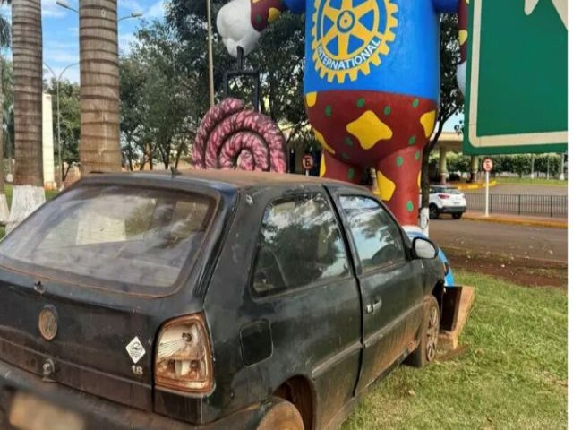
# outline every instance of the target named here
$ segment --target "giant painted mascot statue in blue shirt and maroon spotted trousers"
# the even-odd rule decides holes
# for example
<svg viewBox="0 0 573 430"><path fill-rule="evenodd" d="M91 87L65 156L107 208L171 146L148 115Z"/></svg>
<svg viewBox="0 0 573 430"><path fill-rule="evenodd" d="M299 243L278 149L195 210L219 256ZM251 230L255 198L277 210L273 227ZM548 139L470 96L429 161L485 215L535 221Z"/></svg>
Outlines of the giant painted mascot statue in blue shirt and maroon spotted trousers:
<svg viewBox="0 0 573 430"><path fill-rule="evenodd" d="M358 183L375 168L381 199L402 225L416 225L422 150L440 95L439 13L459 13L464 82L466 1L232 0L217 27L236 56L281 13L304 13L304 98L323 149L321 176Z"/></svg>

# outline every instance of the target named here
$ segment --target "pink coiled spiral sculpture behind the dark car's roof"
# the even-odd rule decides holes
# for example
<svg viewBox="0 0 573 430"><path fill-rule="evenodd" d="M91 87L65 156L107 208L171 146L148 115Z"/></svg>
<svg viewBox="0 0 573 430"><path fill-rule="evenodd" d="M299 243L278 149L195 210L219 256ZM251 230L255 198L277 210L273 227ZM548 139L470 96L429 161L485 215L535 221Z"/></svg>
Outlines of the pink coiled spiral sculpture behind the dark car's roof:
<svg viewBox="0 0 573 430"><path fill-rule="evenodd" d="M228 98L203 117L191 156L194 168L286 172L285 139L278 126L243 101Z"/></svg>

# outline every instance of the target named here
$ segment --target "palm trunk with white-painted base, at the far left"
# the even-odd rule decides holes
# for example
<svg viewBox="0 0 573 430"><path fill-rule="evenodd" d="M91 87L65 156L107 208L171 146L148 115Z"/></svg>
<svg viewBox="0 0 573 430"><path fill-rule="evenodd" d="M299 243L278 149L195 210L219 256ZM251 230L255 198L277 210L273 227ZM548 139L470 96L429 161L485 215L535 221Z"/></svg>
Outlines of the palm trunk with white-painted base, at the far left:
<svg viewBox="0 0 573 430"><path fill-rule="evenodd" d="M7 230L46 201L42 162L42 12L40 0L12 5L16 170Z"/></svg>

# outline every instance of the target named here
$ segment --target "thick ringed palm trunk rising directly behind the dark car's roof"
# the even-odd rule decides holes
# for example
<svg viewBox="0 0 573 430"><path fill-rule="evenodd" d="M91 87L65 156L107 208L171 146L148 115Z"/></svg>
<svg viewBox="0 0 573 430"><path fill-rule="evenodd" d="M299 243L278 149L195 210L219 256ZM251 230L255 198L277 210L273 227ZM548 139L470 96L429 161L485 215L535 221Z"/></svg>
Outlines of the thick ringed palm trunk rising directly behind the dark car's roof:
<svg viewBox="0 0 573 430"><path fill-rule="evenodd" d="M81 0L82 175L121 170L117 49L117 0Z"/></svg>

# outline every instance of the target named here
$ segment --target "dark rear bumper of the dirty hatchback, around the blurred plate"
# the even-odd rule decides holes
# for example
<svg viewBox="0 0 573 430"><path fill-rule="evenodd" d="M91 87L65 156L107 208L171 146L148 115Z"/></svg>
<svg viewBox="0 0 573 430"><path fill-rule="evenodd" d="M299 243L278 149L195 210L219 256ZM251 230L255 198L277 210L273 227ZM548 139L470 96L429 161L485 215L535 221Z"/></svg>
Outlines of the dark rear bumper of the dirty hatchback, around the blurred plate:
<svg viewBox="0 0 573 430"><path fill-rule="evenodd" d="M77 414L85 424L83 430L250 430L257 427L271 406L271 403L255 405L210 424L194 426L103 400L57 383L45 383L38 376L0 360L0 429L13 428L9 425L9 417L14 396L19 392L30 393L50 405Z"/></svg>

